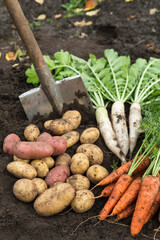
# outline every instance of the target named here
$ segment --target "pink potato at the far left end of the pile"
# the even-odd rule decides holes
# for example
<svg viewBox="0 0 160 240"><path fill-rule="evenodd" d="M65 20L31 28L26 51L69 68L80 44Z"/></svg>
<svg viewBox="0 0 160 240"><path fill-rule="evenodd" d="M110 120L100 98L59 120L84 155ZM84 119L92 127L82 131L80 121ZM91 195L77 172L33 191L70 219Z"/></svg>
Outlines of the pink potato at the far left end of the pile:
<svg viewBox="0 0 160 240"><path fill-rule="evenodd" d="M10 156L13 156L14 155L14 152L13 152L14 146L16 143L18 143L20 141L21 141L21 139L19 138L18 135L14 134L14 133L9 134L8 136L5 137L5 139L3 141L3 152Z"/></svg>

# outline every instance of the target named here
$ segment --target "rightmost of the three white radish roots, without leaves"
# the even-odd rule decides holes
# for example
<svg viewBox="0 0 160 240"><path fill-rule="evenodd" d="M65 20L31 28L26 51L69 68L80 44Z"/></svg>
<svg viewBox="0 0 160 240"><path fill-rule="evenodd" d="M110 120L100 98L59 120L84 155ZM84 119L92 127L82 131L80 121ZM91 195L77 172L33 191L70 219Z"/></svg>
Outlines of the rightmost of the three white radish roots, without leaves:
<svg viewBox="0 0 160 240"><path fill-rule="evenodd" d="M132 103L129 112L129 148L130 158L132 157L133 150L136 146L139 137L140 121L142 120L141 106L139 103Z"/></svg>

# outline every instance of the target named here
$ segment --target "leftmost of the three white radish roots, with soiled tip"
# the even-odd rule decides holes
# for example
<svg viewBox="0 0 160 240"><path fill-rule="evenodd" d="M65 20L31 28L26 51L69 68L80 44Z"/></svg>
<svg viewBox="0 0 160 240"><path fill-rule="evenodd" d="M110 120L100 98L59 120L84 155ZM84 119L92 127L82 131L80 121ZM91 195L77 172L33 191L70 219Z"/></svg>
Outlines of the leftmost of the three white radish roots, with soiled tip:
<svg viewBox="0 0 160 240"><path fill-rule="evenodd" d="M125 156L117 142L117 138L113 131L112 124L108 117L108 112L106 108L104 107L97 108L96 120L106 146L121 160L122 165L125 164L126 163Z"/></svg>

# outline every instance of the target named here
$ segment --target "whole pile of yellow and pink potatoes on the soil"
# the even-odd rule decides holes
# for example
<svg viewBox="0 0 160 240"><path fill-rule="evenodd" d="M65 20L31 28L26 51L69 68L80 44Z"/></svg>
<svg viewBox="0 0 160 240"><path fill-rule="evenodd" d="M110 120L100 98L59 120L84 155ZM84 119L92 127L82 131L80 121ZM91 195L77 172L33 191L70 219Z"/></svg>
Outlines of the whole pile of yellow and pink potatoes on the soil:
<svg viewBox="0 0 160 240"><path fill-rule="evenodd" d="M101 166L103 152L94 144L99 130L92 127L79 134L80 123L81 114L70 110L60 119L46 121L43 133L36 125L28 125L25 141L14 133L4 139L3 151L13 158L7 170L18 178L13 194L20 201L34 201L41 216L54 215L69 205L77 213L88 211L95 201L90 183L108 175ZM78 142L70 156L67 149Z"/></svg>

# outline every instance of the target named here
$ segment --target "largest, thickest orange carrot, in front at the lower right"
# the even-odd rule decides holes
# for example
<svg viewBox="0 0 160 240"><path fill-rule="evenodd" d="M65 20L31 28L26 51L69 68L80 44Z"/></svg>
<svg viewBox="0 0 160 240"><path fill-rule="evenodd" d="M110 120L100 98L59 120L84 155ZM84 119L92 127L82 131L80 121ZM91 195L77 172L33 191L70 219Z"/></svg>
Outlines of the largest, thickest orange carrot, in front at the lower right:
<svg viewBox="0 0 160 240"><path fill-rule="evenodd" d="M151 175L144 177L131 221L132 236L141 231L158 190L159 179L157 177Z"/></svg>

